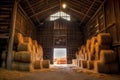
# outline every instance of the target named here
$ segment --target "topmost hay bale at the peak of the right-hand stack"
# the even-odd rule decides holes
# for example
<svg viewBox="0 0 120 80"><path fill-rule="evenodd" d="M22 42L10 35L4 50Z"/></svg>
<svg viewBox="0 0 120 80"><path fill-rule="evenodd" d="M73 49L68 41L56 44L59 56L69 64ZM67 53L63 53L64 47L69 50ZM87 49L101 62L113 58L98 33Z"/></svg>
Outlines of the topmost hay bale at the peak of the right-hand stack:
<svg viewBox="0 0 120 80"><path fill-rule="evenodd" d="M111 44L112 39L109 33L99 33L97 35L97 41L99 44Z"/></svg>

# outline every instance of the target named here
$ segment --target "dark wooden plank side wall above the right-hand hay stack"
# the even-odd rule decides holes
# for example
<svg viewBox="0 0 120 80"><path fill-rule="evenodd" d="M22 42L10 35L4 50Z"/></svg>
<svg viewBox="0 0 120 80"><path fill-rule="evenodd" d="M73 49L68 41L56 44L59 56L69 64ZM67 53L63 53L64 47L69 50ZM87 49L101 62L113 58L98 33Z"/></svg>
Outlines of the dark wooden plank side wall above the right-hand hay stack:
<svg viewBox="0 0 120 80"><path fill-rule="evenodd" d="M113 39L112 48L116 51L120 63L120 1L106 0L104 5L86 24L86 39L101 32L110 33Z"/></svg>

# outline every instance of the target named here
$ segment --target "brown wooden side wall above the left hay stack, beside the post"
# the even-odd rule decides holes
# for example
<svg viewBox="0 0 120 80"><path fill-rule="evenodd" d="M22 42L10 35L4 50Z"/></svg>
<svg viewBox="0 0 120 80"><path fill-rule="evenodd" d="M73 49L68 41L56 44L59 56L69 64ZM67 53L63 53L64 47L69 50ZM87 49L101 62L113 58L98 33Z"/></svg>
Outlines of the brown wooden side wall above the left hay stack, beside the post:
<svg viewBox="0 0 120 80"><path fill-rule="evenodd" d="M20 6L18 7L16 18L15 32L20 32L24 36L30 36L33 39L36 39L36 27L33 25Z"/></svg>

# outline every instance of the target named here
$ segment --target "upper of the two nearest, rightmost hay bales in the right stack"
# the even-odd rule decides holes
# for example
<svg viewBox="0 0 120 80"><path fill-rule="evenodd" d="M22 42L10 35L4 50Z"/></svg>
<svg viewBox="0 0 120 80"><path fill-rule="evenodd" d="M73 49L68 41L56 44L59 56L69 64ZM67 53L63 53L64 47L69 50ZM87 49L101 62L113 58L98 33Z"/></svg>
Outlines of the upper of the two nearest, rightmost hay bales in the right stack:
<svg viewBox="0 0 120 80"><path fill-rule="evenodd" d="M101 50L100 61L103 63L114 63L116 60L116 54L113 50Z"/></svg>

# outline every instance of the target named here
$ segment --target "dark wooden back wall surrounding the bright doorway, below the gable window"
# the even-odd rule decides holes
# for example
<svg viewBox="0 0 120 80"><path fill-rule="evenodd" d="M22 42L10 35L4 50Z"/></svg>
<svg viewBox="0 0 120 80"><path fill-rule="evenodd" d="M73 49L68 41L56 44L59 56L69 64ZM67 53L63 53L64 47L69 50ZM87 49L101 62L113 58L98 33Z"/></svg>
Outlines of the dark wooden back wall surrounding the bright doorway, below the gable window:
<svg viewBox="0 0 120 80"><path fill-rule="evenodd" d="M50 59L51 63L53 48L67 48L67 63L71 63L77 48L82 44L82 37L76 22L64 20L47 21L37 32L38 41L43 46L44 59Z"/></svg>

